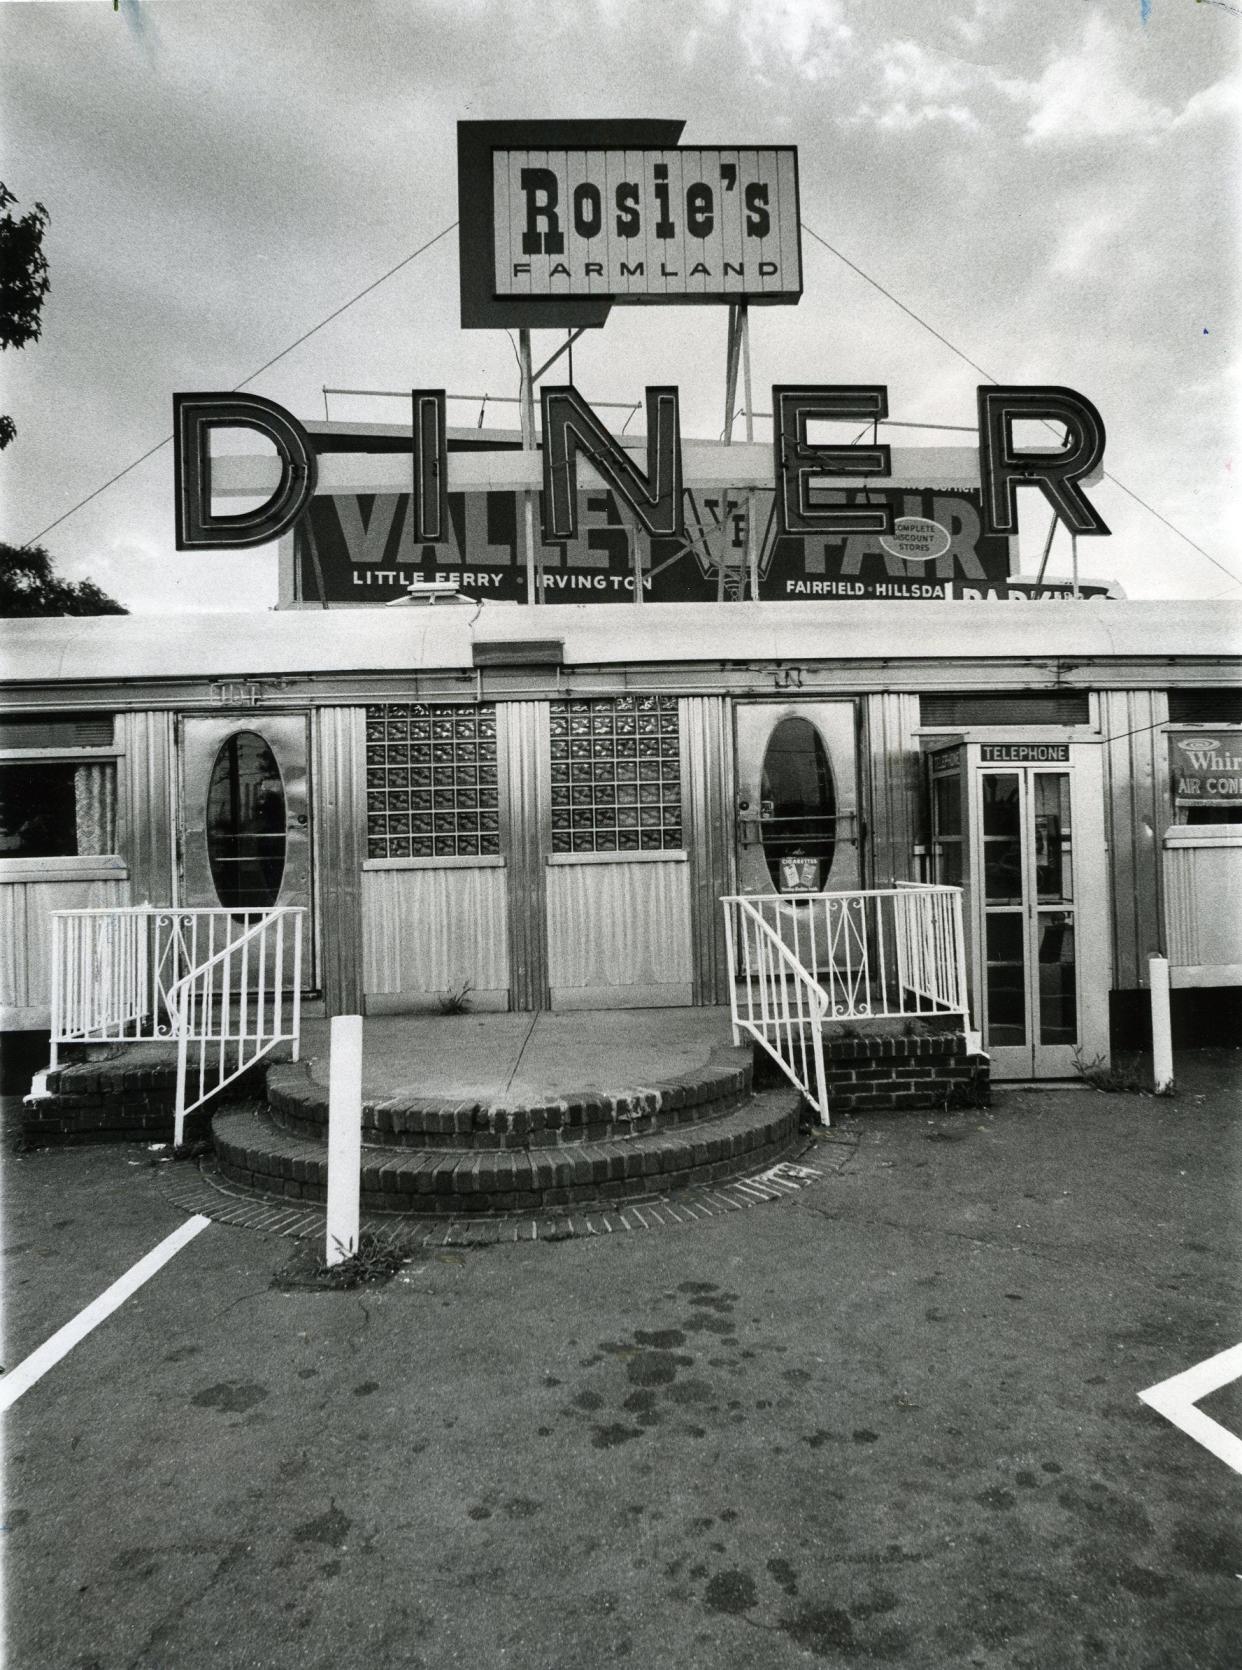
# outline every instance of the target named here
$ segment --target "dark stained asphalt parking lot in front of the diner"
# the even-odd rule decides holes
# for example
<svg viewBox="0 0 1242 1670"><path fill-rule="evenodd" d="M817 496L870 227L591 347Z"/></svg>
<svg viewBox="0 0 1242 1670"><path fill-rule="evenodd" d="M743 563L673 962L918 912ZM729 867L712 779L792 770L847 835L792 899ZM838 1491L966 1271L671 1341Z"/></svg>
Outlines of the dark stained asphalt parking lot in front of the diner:
<svg viewBox="0 0 1242 1670"><path fill-rule="evenodd" d="M1240 1065L379 1288L210 1224L8 1413L7 1662L1232 1670L1242 1476L1138 1393L1242 1339ZM7 1156L7 1369L185 1222L170 1164Z"/></svg>

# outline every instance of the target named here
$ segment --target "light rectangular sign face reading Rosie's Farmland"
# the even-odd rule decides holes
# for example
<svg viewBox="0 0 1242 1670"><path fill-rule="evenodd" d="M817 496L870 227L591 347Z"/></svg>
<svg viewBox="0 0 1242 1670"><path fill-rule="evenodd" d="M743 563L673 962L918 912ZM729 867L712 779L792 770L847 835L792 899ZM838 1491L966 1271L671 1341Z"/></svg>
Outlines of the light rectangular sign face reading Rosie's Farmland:
<svg viewBox="0 0 1242 1670"><path fill-rule="evenodd" d="M796 302L798 154L492 150L494 294Z"/></svg>

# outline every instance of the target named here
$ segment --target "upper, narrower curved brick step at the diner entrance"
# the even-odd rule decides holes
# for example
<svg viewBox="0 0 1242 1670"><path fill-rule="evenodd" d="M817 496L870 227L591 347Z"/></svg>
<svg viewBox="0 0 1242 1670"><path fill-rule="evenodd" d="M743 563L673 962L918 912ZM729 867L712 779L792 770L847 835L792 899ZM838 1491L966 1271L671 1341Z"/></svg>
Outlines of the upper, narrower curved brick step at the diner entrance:
<svg viewBox="0 0 1242 1670"><path fill-rule="evenodd" d="M364 1099L362 1141L374 1147L541 1149L604 1142L714 1119L751 1094L751 1052L719 1045L703 1067L608 1096L579 1091L541 1101L487 1097ZM327 1137L327 1089L305 1064L272 1067L267 1109L292 1136Z"/></svg>

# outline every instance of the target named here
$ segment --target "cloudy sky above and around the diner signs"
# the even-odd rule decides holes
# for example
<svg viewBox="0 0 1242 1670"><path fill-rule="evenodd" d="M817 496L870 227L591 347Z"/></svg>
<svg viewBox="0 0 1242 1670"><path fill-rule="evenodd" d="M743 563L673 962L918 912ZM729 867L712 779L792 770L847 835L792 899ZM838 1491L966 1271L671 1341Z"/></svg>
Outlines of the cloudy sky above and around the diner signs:
<svg viewBox="0 0 1242 1670"><path fill-rule="evenodd" d="M683 117L683 144L798 145L806 227L998 381L1090 396L1105 468L1229 571L1105 481L1083 573L1239 598L1240 45L1242 0L0 0L0 179L52 215L42 341L0 361L0 538L456 220L457 120ZM753 316L756 406L885 382L893 418L973 424L975 371L803 259L801 302ZM723 309L616 309L574 374L599 401L678 382L714 436L723 362ZM509 341L459 329L456 237L249 387L322 418L326 384L516 394ZM1047 516L1020 509L1037 563ZM174 551L167 446L43 543L134 610L275 601L274 551Z"/></svg>

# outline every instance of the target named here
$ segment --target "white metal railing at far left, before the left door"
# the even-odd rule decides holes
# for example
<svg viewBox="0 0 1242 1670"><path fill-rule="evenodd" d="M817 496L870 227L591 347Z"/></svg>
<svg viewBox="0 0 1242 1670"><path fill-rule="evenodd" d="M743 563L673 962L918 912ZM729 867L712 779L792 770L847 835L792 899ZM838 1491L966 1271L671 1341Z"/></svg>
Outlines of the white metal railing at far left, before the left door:
<svg viewBox="0 0 1242 1670"><path fill-rule="evenodd" d="M272 910L122 905L52 913L52 1060L62 1044L177 1042L174 1131L292 1044L302 1004L302 917Z"/></svg>

